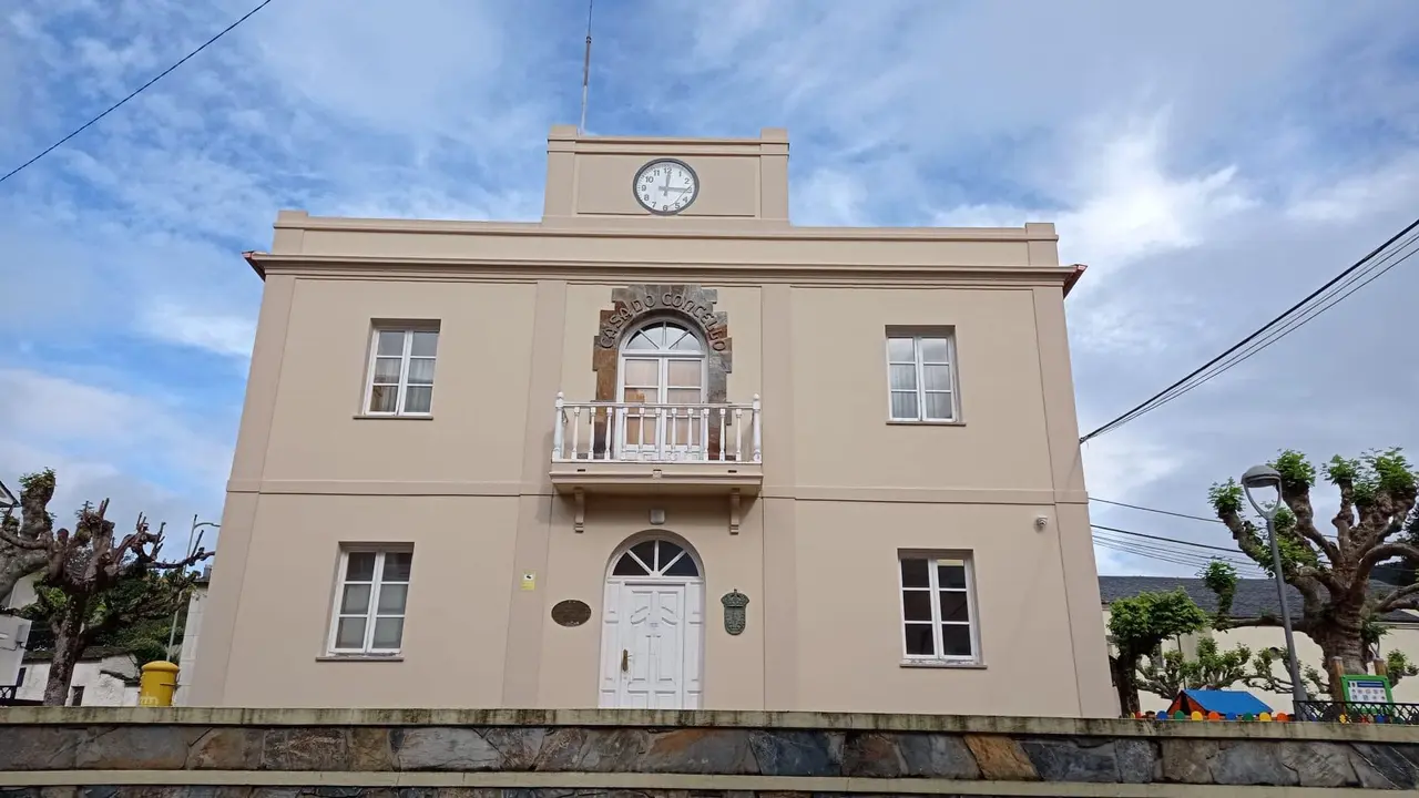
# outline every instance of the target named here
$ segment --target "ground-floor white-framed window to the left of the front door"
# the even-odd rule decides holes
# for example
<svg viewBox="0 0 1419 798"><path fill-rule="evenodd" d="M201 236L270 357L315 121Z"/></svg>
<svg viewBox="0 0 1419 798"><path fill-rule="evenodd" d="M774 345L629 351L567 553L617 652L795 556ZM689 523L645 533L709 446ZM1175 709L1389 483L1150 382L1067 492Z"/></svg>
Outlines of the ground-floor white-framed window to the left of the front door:
<svg viewBox="0 0 1419 798"><path fill-rule="evenodd" d="M396 655L404 639L404 603L414 552L350 548L341 552L331 653Z"/></svg>

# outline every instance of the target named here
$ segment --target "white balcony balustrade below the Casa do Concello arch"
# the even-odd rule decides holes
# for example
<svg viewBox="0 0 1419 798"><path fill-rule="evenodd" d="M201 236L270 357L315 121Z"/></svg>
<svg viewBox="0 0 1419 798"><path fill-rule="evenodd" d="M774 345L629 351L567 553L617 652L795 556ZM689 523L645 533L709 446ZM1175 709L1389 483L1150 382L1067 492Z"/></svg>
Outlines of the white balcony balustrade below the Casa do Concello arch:
<svg viewBox="0 0 1419 798"><path fill-rule="evenodd" d="M749 405L568 402L556 395L553 463L762 463L759 396Z"/></svg>

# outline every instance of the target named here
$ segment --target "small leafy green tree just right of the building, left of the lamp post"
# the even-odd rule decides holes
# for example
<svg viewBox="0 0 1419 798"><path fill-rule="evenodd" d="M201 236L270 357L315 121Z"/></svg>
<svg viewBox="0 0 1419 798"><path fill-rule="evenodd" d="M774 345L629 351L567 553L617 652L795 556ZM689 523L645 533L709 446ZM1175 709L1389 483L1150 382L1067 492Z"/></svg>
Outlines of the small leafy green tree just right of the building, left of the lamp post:
<svg viewBox="0 0 1419 798"><path fill-rule="evenodd" d="M1118 709L1124 717L1138 711L1139 665L1165 640L1208 626L1208 613L1182 588L1147 592L1108 605L1108 633L1115 655L1110 657Z"/></svg>

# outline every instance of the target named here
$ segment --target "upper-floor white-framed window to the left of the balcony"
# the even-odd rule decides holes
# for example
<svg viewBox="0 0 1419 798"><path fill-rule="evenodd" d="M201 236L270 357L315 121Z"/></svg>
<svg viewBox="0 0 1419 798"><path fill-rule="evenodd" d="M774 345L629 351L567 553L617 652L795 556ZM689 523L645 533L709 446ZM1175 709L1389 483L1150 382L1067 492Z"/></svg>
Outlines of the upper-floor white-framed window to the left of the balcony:
<svg viewBox="0 0 1419 798"><path fill-rule="evenodd" d="M434 400L437 328L375 329L369 348L365 412L372 416L427 416Z"/></svg>

